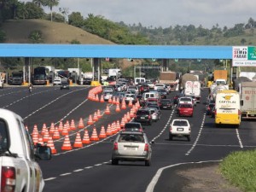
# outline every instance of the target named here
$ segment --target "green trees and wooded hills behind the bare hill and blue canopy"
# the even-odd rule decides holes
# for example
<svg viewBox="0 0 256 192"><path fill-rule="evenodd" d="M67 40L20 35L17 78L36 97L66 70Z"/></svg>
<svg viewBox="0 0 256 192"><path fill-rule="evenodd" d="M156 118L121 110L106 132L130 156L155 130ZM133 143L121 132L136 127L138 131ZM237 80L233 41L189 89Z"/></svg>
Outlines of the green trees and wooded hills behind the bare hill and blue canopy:
<svg viewBox="0 0 256 192"><path fill-rule="evenodd" d="M84 18L81 13L68 14L68 9L52 12L60 0L33 0L20 2L18 0L0 0L0 26L10 19L45 19L56 22L67 22L87 32L108 39L115 44L164 44L164 45L243 45L256 44L254 29L256 21L249 18L247 23L239 23L234 27L218 24L211 29L203 26L169 26L166 28L143 26L141 23L125 25L124 22L113 22L102 15L89 14ZM50 14L44 13L44 7L50 9ZM0 42L4 42L4 32L0 31Z"/></svg>

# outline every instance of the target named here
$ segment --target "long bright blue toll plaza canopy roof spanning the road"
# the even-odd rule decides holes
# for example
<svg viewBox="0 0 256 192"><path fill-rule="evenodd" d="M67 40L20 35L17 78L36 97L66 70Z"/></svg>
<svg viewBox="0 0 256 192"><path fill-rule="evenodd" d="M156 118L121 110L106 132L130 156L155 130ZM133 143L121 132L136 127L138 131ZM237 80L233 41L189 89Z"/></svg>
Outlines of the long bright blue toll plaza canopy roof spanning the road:
<svg viewBox="0 0 256 192"><path fill-rule="evenodd" d="M232 46L0 44L0 57L232 59Z"/></svg>

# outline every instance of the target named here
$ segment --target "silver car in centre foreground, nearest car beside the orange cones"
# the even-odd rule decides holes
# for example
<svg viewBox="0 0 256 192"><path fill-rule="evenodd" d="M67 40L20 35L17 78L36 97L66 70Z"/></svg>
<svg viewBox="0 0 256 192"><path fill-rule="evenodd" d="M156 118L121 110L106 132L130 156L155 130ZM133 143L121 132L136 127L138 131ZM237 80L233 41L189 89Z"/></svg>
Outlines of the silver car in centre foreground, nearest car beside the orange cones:
<svg viewBox="0 0 256 192"><path fill-rule="evenodd" d="M151 165L152 148L144 132L122 131L113 142L112 165L121 161L145 161Z"/></svg>

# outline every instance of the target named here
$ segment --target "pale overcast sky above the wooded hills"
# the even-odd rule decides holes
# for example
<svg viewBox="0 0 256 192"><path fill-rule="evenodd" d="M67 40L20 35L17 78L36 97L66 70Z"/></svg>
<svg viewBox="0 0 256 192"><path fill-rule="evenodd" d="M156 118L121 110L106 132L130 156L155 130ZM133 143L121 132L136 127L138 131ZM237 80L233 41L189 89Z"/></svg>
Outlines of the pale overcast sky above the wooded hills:
<svg viewBox="0 0 256 192"><path fill-rule="evenodd" d="M105 19L143 26L188 26L190 24L212 28L233 27L256 20L254 0L60 0L54 8L68 8L69 14L80 12L102 15Z"/></svg>

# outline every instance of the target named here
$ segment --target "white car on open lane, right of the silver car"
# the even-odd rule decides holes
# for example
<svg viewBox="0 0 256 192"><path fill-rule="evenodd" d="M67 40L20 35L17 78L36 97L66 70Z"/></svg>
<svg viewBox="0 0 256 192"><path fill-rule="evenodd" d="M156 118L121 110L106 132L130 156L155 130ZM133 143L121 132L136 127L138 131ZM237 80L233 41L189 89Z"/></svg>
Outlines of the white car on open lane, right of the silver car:
<svg viewBox="0 0 256 192"><path fill-rule="evenodd" d="M187 137L190 142L191 125L187 119L173 119L169 130L169 140L173 137Z"/></svg>

